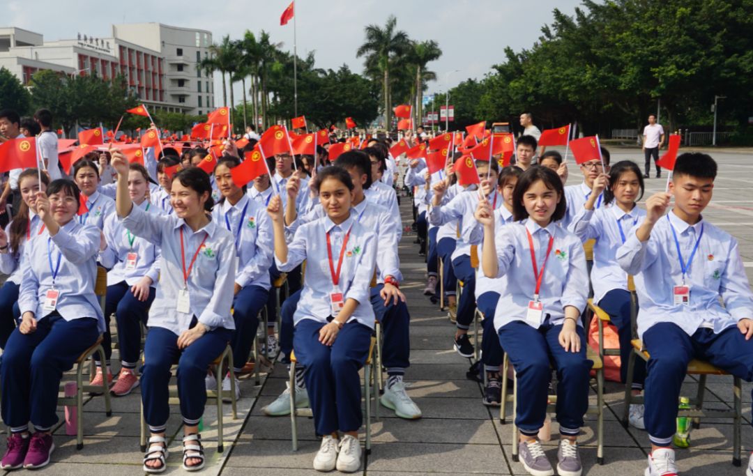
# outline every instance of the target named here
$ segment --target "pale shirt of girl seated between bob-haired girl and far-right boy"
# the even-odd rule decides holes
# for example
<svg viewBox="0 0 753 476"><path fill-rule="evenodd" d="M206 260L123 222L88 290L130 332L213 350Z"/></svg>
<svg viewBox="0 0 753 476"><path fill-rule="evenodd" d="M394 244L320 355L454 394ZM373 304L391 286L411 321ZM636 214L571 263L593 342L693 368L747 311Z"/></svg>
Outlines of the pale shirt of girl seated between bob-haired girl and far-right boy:
<svg viewBox="0 0 753 476"><path fill-rule="evenodd" d="M646 211L637 205L623 212L617 205L602 206L598 210L581 209L568 229L584 243L596 240L593 245L591 285L593 302L599 303L612 289L627 291L627 273L617 264L617 249L625 243L634 227L640 226Z"/></svg>

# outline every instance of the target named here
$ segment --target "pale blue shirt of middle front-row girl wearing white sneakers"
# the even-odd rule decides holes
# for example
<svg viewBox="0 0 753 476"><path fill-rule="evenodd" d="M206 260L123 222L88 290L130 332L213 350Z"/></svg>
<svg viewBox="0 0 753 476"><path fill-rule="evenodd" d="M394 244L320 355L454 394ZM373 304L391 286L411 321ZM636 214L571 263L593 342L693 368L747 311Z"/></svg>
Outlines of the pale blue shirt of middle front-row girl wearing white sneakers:
<svg viewBox="0 0 753 476"><path fill-rule="evenodd" d="M377 262L377 235L368 227L349 216L341 224L334 224L328 216L302 224L288 245L288 261L283 263L275 255L277 269L293 270L306 260L303 276L303 291L293 315L295 325L303 319L327 322L332 314L330 294L334 290L327 252L327 233L330 233L332 266L337 270L340 250L346 233L350 230L343 266L340 270L338 288L343 293L343 302L349 298L358 301L355 312L347 322L358 321L374 328L374 312L370 303L370 283Z"/></svg>

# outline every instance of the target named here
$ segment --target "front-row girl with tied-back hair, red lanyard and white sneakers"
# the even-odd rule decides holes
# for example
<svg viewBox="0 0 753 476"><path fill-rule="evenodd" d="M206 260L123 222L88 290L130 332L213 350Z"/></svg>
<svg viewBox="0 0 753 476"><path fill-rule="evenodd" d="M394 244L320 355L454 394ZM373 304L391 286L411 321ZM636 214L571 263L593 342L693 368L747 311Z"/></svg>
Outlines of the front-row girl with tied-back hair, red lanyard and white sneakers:
<svg viewBox="0 0 753 476"><path fill-rule="evenodd" d="M279 196L273 197L268 211L279 270L306 260L294 316L294 348L297 362L306 368L316 433L323 435L314 469L354 472L361 466L358 370L366 362L374 326L368 300L377 236L351 214L353 182L348 172L331 166L314 180L327 216L301 225L290 246ZM344 433L339 444L338 430Z"/></svg>

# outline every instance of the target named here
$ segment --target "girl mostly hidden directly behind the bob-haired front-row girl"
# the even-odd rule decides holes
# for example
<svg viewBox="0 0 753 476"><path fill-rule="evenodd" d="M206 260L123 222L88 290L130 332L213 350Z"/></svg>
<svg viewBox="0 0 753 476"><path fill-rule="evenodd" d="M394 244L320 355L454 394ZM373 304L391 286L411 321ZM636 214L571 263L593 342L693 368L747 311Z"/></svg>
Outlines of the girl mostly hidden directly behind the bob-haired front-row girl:
<svg viewBox="0 0 753 476"><path fill-rule="evenodd" d="M516 166L507 166L499 172L497 186L505 198L503 206L498 207L494 216L495 233L499 235L505 224L513 221L513 191L523 171ZM467 230L471 237L468 243L479 245L483 242L483 227L477 224ZM483 246L483 245L482 245ZM476 271L476 306L483 313L483 339L481 340L481 363L486 372L486 387L483 391L483 404L498 407L502 401L502 385L499 366L502 365L504 353L499 346L499 338L494 328L494 314L499 301L500 286L504 278L489 279L483 274L482 267ZM507 376L502 376L507 378Z"/></svg>

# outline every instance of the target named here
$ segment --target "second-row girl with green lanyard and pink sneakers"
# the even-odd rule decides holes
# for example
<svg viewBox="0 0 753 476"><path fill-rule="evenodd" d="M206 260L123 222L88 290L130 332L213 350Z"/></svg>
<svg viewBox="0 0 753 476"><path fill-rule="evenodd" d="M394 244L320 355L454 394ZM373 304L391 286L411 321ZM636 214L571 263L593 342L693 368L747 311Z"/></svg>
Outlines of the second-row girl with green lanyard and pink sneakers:
<svg viewBox="0 0 753 476"><path fill-rule="evenodd" d="M128 193L136 206L145 212L160 213L160 210L146 200L149 187L149 174L140 163L132 163L128 172ZM158 258L160 250L134 236L123 227L115 214L105 218L105 249L99 251L99 262L109 269L107 273L107 294L105 295L105 335L102 347L105 349L105 365L108 382L112 380L110 357L112 337L110 316L115 314L117 341L120 348L120 374L110 390L112 395L128 395L139 386L136 366L141 355L141 326L147 323L147 311L154 301L154 288L160 274ZM102 362L95 361L97 372L102 374Z"/></svg>

